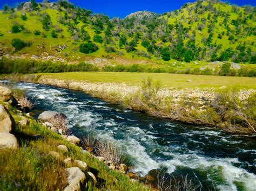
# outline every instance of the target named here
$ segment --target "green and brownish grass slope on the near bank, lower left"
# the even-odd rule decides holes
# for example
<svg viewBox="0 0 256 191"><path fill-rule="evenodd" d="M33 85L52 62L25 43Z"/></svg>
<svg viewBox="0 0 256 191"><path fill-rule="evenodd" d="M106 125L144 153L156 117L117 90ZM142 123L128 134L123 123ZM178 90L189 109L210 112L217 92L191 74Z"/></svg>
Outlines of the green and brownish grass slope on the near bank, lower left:
<svg viewBox="0 0 256 191"><path fill-rule="evenodd" d="M11 108L10 112L16 122L22 119L15 108ZM82 153L78 146L70 144L31 118L28 126L16 124L12 133L18 139L19 148L1 150L0 188L4 190L63 190L68 183L63 160L68 157L85 161L90 167L89 171L97 176L99 183L96 186L93 186L92 180L86 179L86 190L150 190L138 181L131 182L120 172L111 171L96 158ZM36 139L35 135L41 138ZM69 153L58 150L59 144L67 146ZM60 158L49 155L50 151L59 152Z"/></svg>

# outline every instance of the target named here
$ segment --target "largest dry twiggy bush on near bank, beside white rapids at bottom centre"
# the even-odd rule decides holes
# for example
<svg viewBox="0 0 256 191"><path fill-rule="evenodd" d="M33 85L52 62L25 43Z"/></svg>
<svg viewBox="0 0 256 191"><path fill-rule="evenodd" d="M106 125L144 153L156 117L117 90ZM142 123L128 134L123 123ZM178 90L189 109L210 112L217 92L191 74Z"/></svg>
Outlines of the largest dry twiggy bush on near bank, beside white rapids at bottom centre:
<svg viewBox="0 0 256 191"><path fill-rule="evenodd" d="M114 165L120 165L124 161L122 149L109 142L99 142L96 148L96 153L99 157L103 157L105 160L111 161Z"/></svg>

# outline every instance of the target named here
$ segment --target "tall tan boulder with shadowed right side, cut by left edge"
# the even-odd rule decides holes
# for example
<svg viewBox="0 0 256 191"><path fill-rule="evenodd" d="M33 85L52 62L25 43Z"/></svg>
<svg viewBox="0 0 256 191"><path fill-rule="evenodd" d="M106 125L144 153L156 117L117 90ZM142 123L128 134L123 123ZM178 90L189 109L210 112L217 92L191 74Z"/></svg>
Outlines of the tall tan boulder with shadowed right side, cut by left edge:
<svg viewBox="0 0 256 191"><path fill-rule="evenodd" d="M0 104L0 132L9 133L15 126L14 118L9 111Z"/></svg>

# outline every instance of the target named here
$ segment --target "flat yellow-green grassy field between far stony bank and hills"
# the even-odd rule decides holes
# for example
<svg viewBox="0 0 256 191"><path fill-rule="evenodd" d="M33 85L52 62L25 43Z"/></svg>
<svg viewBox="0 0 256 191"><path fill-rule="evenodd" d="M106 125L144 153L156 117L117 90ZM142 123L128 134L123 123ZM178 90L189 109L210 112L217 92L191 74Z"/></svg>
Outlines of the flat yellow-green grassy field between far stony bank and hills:
<svg viewBox="0 0 256 191"><path fill-rule="evenodd" d="M184 88L219 88L235 86L241 89L256 89L256 79L250 77L206 76L187 74L160 74L160 73L118 73L118 72L73 72L42 74L62 80L77 80L90 82L126 83L130 86L140 85L143 78L151 77L159 80L164 87ZM188 82L187 80L191 80Z"/></svg>

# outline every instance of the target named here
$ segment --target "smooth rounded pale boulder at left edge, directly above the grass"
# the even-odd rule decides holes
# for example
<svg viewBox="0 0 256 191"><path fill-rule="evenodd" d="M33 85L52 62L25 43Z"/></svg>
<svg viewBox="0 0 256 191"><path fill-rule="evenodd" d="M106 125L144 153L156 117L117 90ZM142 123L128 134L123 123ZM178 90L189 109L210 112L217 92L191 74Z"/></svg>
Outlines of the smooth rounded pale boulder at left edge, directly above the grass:
<svg viewBox="0 0 256 191"><path fill-rule="evenodd" d="M14 135L8 132L0 132L0 149L18 147L18 141Z"/></svg>

